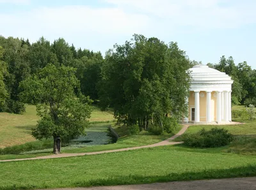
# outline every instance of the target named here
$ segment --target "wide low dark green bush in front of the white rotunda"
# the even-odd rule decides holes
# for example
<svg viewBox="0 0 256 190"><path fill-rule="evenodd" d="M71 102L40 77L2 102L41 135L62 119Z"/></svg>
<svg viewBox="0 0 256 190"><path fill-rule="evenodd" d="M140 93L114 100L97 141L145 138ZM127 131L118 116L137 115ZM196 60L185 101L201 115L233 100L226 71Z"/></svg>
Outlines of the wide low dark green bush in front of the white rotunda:
<svg viewBox="0 0 256 190"><path fill-rule="evenodd" d="M228 145L234 137L225 129L212 128L210 131L205 129L194 134L182 136L184 145L198 148L213 148Z"/></svg>

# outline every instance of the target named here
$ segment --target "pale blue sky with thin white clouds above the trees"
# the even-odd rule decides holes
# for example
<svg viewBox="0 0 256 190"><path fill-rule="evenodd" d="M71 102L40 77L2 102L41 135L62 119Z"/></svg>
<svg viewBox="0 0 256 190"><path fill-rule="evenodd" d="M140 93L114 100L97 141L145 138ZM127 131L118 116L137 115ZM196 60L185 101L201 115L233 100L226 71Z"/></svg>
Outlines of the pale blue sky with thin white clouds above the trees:
<svg viewBox="0 0 256 190"><path fill-rule="evenodd" d="M177 42L189 59L232 56L256 69L254 0L0 0L0 35L64 38L104 55L134 33Z"/></svg>

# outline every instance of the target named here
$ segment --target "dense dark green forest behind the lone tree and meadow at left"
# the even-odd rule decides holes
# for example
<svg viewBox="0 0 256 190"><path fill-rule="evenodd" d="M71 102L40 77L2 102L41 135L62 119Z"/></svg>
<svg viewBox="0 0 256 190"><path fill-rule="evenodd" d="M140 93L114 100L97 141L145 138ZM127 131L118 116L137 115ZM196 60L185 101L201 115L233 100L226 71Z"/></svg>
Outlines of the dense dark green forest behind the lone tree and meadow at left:
<svg viewBox="0 0 256 190"><path fill-rule="evenodd" d="M0 36L0 111L24 112L24 102L19 97L20 82L37 74L49 63L56 67L76 68L79 90L96 100L98 95L95 85L100 79L103 62L100 52L76 49L63 38L51 44L42 37L31 44L29 40Z"/></svg>

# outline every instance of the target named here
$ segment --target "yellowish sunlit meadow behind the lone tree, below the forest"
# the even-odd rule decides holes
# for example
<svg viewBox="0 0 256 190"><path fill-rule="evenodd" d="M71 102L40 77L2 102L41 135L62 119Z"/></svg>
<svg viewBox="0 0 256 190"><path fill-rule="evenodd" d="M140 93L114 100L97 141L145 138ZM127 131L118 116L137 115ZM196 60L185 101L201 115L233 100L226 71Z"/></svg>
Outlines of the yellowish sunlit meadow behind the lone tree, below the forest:
<svg viewBox="0 0 256 190"><path fill-rule="evenodd" d="M92 108L90 122L107 122L114 119L111 111L100 111L95 106ZM0 148L35 141L31 136L31 129L36 127L38 120L36 107L32 105L26 105L26 113L23 115L0 113Z"/></svg>

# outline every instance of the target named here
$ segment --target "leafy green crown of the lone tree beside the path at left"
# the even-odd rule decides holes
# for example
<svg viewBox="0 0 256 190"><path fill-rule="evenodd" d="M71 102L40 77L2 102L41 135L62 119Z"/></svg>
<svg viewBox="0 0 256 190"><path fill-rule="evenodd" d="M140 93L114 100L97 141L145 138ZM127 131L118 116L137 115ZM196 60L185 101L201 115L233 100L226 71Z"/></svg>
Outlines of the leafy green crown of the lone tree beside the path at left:
<svg viewBox="0 0 256 190"><path fill-rule="evenodd" d="M76 98L74 89L79 81L75 72L71 67L49 64L20 83L22 100L37 103L36 111L41 120L32 132L35 138L53 136L54 140L67 140L84 134L89 125L91 100L83 95Z"/></svg>

